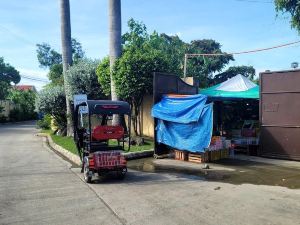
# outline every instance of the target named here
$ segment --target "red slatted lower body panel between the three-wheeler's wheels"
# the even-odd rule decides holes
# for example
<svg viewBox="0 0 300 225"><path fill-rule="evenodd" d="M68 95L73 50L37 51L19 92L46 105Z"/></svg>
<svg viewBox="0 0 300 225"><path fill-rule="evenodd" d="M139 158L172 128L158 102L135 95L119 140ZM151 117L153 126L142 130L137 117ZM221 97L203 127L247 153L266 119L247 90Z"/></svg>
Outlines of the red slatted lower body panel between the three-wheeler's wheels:
<svg viewBox="0 0 300 225"><path fill-rule="evenodd" d="M126 167L126 159L119 151L95 152L93 154L95 169L112 169Z"/></svg>

